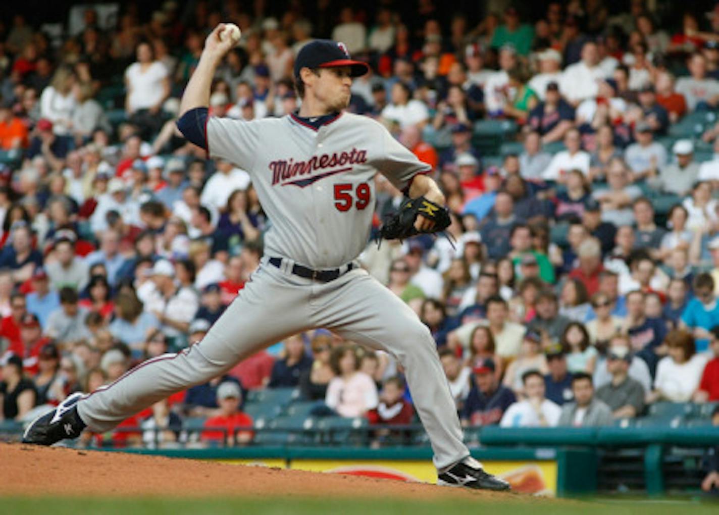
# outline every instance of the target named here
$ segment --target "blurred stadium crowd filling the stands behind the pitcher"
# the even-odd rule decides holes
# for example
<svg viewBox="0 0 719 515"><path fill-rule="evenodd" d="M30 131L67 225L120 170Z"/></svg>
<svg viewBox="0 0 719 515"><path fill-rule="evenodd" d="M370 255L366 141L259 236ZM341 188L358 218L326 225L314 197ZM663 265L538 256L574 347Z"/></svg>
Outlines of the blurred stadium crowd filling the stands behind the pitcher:
<svg viewBox="0 0 719 515"><path fill-rule="evenodd" d="M294 111L293 58L331 37L371 64L349 109L434 168L446 236L368 242L360 261L429 327L464 425L597 426L719 401L719 8L674 26L641 0L617 14L550 1L531 22L500 0L480 19L431 0L263 4L83 8L54 37L20 15L0 24L0 420L198 342L259 265L272 220L250 173L175 128L223 21L242 40L212 116ZM402 200L382 176L375 193L373 230ZM247 391L287 387L316 416L414 419L393 357L318 329L123 425L171 442L203 417L201 439L248 442Z"/></svg>

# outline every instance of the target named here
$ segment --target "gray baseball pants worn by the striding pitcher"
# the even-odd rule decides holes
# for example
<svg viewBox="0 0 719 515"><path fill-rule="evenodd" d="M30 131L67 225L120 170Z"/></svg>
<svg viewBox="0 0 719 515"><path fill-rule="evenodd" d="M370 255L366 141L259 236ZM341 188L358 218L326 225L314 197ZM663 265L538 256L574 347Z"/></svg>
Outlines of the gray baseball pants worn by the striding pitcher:
<svg viewBox="0 0 719 515"><path fill-rule="evenodd" d="M317 283L267 263L252 274L201 342L155 357L88 394L78 413L93 432L185 388L206 383L240 360L298 332L324 327L353 342L390 352L403 365L412 400L429 434L434 465L442 470L470 455L429 329L403 301L354 269Z"/></svg>

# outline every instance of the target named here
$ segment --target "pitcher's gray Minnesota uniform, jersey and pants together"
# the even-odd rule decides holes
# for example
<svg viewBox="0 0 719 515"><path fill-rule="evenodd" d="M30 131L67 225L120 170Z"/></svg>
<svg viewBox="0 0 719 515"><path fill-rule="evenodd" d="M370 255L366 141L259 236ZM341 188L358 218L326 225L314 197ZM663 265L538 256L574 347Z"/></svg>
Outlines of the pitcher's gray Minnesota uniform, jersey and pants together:
<svg viewBox="0 0 719 515"><path fill-rule="evenodd" d="M439 470L470 453L462 442L454 399L436 344L412 309L367 271L343 265L367 244L380 170L400 189L427 165L377 122L341 114L319 129L301 119L237 122L211 118L209 152L249 170L273 222L265 257L206 337L178 354L141 363L78 402L78 414L95 432L188 386L204 383L281 339L325 327L402 363L412 398ZM278 267L270 257L283 258ZM342 268L323 283L292 272Z"/></svg>

